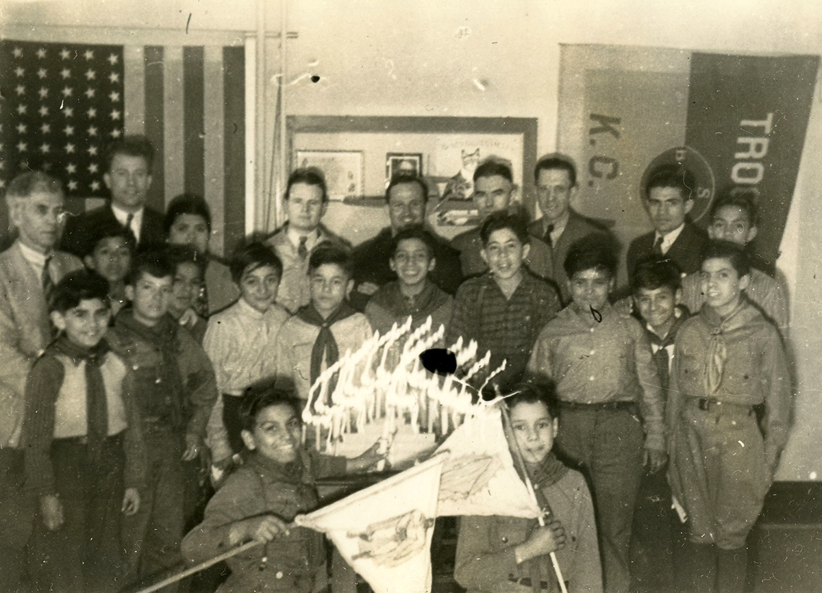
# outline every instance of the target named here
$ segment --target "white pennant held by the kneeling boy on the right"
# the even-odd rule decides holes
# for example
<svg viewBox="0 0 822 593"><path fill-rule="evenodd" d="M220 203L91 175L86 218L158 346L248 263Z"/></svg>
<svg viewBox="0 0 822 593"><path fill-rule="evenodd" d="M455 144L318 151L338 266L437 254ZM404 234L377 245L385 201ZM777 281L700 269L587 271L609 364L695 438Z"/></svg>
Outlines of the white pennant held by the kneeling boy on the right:
<svg viewBox="0 0 822 593"><path fill-rule="evenodd" d="M499 407L488 407L459 426L437 449L446 452L438 516L539 516L514 467Z"/></svg>

